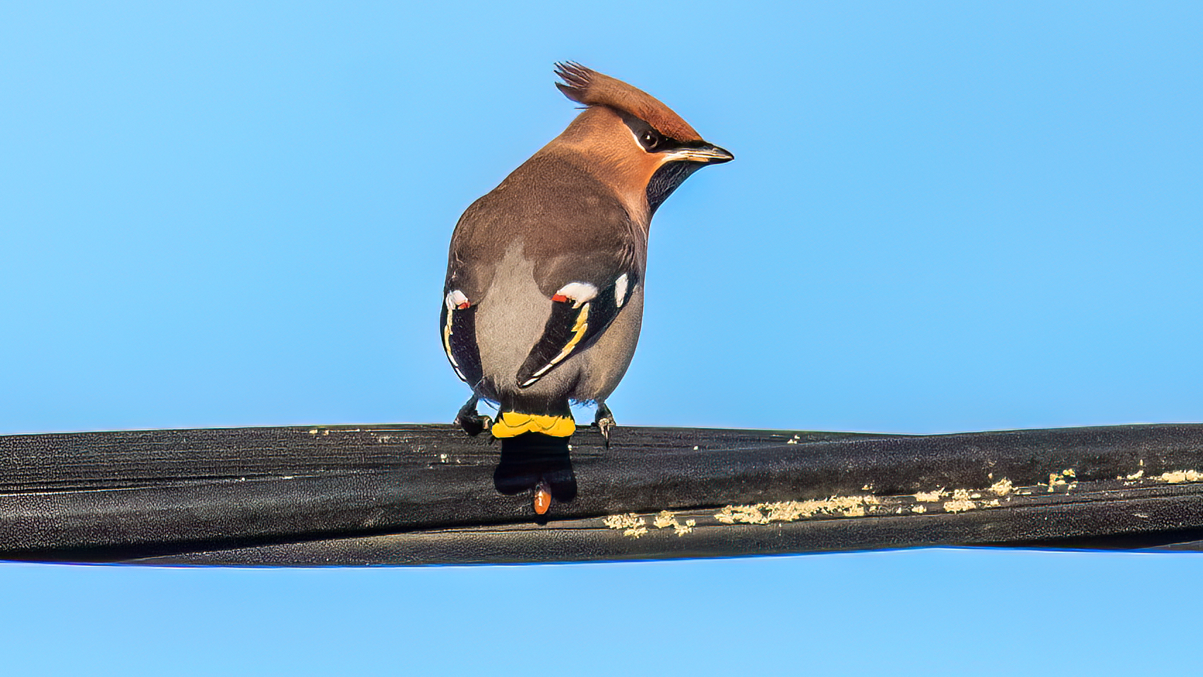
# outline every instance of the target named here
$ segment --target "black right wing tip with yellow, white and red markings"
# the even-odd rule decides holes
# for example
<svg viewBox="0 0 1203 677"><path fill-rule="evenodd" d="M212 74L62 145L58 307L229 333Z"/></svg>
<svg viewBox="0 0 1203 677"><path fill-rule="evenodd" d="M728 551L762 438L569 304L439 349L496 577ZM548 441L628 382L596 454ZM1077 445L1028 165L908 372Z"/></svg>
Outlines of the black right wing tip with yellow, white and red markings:
<svg viewBox="0 0 1203 677"><path fill-rule="evenodd" d="M551 315L522 367L518 387L529 387L557 364L591 345L630 301L638 274L622 271L598 283L570 281L552 295ZM603 286L604 285L604 286Z"/></svg>

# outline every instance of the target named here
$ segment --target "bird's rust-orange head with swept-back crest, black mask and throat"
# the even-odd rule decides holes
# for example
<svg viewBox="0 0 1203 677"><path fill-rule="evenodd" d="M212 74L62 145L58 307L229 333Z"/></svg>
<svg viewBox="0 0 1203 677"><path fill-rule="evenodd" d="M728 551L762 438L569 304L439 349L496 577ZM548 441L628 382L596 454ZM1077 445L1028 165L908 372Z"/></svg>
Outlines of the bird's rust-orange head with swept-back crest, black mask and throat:
<svg viewBox="0 0 1203 677"><path fill-rule="evenodd" d="M685 179L734 159L646 91L580 64L556 64L564 96L586 106L557 139L583 153L620 192L646 200L650 219Z"/></svg>

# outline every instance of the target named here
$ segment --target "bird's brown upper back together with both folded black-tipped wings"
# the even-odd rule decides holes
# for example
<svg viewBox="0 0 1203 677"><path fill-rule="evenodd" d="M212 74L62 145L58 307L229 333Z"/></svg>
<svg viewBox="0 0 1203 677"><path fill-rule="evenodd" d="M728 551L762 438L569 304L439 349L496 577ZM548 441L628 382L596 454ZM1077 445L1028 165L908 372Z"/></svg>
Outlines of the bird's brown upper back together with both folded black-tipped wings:
<svg viewBox="0 0 1203 677"><path fill-rule="evenodd" d="M556 158L537 155L473 203L451 237L442 322L448 360L472 386L482 375L475 304L496 302L486 290L502 254L520 240L552 308L518 368L518 387L534 385L610 326L640 283L647 247L610 189Z"/></svg>

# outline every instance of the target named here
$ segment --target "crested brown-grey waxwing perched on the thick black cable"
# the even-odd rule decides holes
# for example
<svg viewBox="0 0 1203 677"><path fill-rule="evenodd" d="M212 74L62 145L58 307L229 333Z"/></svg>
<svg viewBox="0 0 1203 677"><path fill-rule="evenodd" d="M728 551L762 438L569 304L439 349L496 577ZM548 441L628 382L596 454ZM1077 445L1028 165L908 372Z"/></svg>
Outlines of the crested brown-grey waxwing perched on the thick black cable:
<svg viewBox="0 0 1203 677"><path fill-rule="evenodd" d="M460 218L439 328L472 387L456 415L466 433L569 438L570 403L595 403L609 446L606 398L639 340L652 216L693 172L734 156L650 94L575 61L555 66L582 111ZM481 399L496 420L478 412Z"/></svg>

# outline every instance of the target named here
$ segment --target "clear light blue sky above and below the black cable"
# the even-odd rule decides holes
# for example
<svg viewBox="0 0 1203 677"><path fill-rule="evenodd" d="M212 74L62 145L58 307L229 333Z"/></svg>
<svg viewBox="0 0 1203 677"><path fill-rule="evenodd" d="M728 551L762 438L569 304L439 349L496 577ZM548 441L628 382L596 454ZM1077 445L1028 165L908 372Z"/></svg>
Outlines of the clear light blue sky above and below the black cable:
<svg viewBox="0 0 1203 677"><path fill-rule="evenodd" d="M449 421L446 242L571 119L564 59L736 155L656 216L620 424L1199 421L1199 35L1190 2L6 4L0 433ZM1201 566L4 565L0 647L60 673L1102 673L1187 660L1154 649Z"/></svg>

